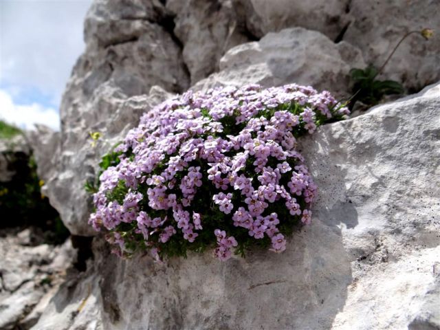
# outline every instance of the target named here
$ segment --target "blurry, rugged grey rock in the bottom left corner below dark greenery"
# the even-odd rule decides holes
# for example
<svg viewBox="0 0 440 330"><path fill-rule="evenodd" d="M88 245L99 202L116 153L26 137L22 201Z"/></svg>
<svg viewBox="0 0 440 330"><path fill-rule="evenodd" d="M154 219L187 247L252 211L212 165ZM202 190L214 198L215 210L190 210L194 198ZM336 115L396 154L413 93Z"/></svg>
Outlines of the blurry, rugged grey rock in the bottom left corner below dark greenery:
<svg viewBox="0 0 440 330"><path fill-rule="evenodd" d="M35 325L75 256L70 241L56 247L28 246L31 234L1 230L0 329Z"/></svg>

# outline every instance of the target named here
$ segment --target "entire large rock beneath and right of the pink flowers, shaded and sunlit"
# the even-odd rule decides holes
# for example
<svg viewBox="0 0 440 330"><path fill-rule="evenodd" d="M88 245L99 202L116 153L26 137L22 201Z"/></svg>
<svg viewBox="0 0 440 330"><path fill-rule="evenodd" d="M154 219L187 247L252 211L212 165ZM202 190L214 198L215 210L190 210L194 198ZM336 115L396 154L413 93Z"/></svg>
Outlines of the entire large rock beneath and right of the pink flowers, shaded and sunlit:
<svg viewBox="0 0 440 330"><path fill-rule="evenodd" d="M318 200L285 252L160 265L95 239L34 329L437 329L439 107L440 84L301 140Z"/></svg>

